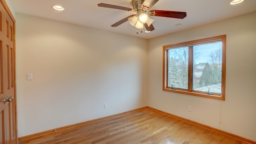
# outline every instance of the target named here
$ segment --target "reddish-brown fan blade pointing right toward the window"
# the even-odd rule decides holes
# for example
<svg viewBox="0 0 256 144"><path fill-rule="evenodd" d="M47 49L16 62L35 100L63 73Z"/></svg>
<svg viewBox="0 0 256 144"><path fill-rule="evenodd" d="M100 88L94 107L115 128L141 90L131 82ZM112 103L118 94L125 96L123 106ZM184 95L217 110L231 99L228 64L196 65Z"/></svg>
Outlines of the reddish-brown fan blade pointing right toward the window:
<svg viewBox="0 0 256 144"><path fill-rule="evenodd" d="M174 12L174 11L166 11L166 10L150 10L150 16L162 16L168 18L180 18L183 19L187 16L186 12Z"/></svg>

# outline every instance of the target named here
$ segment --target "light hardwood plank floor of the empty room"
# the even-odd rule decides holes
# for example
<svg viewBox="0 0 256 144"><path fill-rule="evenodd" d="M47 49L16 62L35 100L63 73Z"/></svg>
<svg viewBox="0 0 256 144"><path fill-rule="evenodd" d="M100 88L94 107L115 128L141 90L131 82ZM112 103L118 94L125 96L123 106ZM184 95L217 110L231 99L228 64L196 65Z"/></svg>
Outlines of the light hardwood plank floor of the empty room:
<svg viewBox="0 0 256 144"><path fill-rule="evenodd" d="M150 109L49 134L20 144L246 144Z"/></svg>

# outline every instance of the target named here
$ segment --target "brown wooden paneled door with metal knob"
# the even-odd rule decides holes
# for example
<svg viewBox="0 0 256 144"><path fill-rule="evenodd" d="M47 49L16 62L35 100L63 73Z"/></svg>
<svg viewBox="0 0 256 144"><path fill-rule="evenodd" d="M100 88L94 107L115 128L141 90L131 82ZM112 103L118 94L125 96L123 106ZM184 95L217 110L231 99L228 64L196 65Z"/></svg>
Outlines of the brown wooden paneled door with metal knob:
<svg viewBox="0 0 256 144"><path fill-rule="evenodd" d="M0 144L17 144L14 18L0 4ZM6 8L7 7L7 8ZM10 10L9 10L10 11Z"/></svg>

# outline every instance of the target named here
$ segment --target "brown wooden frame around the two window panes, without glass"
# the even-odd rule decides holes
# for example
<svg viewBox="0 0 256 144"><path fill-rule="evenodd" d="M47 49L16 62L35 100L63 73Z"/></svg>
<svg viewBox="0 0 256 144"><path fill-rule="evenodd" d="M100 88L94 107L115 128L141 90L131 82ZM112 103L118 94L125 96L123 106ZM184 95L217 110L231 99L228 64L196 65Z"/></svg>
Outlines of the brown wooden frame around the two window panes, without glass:
<svg viewBox="0 0 256 144"><path fill-rule="evenodd" d="M192 74L193 74L193 53L192 50L188 52L188 90L168 87L168 50L171 48L193 45L198 43L204 43L214 40L222 40L222 82L221 82L221 94L207 94L207 92L199 92L192 90ZM188 46L190 47L190 46ZM192 47L192 46L191 46ZM192 40L188 42L181 42L178 44L170 44L163 46L163 90L168 92L175 92L180 94L188 94L192 96L200 96L204 98L212 98L217 100L225 100L225 88L226 88L226 35L214 36L210 38L203 38L200 40Z"/></svg>

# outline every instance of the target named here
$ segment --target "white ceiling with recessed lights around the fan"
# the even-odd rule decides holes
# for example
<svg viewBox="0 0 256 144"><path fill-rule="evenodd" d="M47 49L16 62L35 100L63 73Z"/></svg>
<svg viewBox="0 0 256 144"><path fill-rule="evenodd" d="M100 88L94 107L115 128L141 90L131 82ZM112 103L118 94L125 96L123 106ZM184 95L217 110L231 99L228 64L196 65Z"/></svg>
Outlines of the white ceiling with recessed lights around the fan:
<svg viewBox="0 0 256 144"><path fill-rule="evenodd" d="M125 10L98 7L99 3L113 4L132 8L132 0L10 0L16 12L78 24L91 28L117 32L130 36L150 39L201 26L226 18L256 11L256 0L244 0L230 5L231 0L159 0L150 10L187 12L184 19L151 16L155 30L145 33L125 22L118 27L112 24L136 14ZM52 5L60 5L64 11L57 11ZM175 24L182 24L175 26ZM142 33L140 32L142 31ZM137 32L139 32L137 34Z"/></svg>

